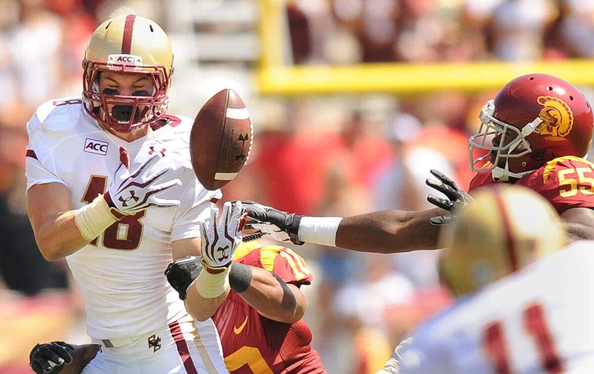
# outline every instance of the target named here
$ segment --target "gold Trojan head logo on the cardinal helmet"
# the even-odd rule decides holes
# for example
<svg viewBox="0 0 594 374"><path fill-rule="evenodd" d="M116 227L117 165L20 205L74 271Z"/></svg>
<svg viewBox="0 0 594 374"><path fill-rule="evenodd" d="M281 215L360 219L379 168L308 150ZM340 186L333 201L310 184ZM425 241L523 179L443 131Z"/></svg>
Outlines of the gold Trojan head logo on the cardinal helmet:
<svg viewBox="0 0 594 374"><path fill-rule="evenodd" d="M539 96L536 101L544 106L538 115L542 122L536 131L542 135L551 134L554 137L566 137L573 127L573 112L567 103L552 96Z"/></svg>

